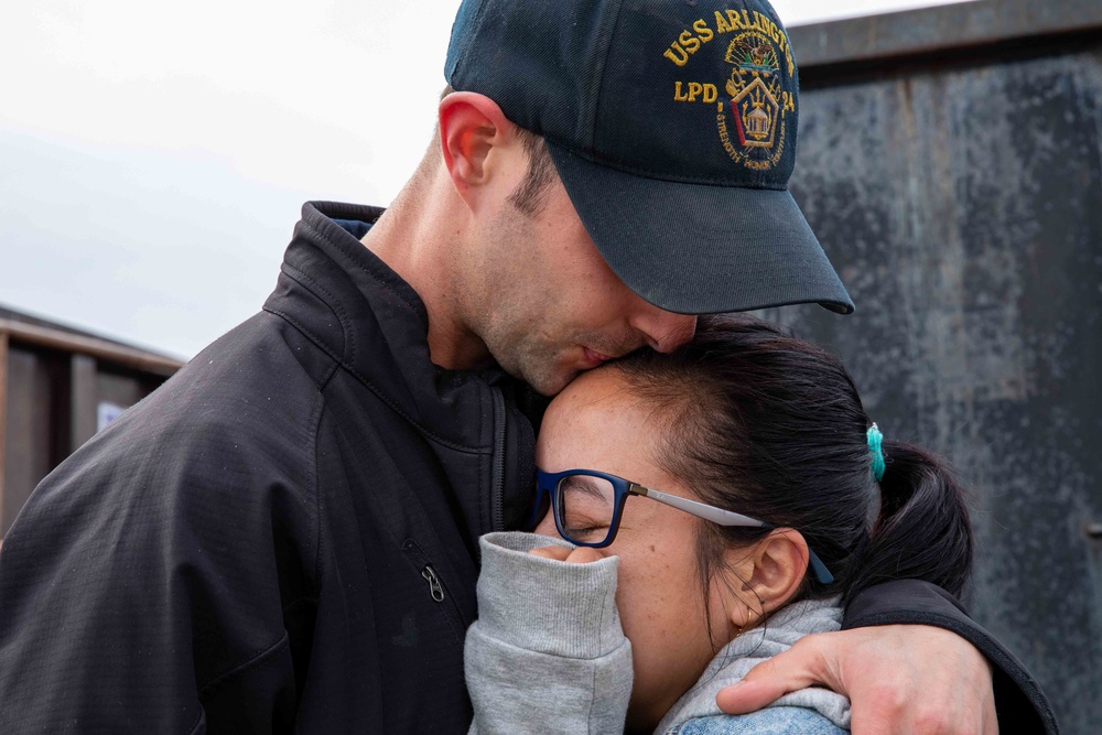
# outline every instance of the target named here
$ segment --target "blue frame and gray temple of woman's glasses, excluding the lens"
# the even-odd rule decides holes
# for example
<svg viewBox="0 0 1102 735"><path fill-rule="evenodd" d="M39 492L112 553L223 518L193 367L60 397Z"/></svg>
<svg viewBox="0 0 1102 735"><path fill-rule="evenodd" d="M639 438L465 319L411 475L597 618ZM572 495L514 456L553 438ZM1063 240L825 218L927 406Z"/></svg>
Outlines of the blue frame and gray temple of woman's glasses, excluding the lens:
<svg viewBox="0 0 1102 735"><path fill-rule="evenodd" d="M596 543L576 541L572 539L562 528L562 521L559 518L558 512L559 506L555 502L557 493L559 490L560 483L564 478L573 475L598 477L613 486L615 497L613 501L613 518L608 523L608 533L603 540ZM750 518L749 516L743 516L742 514L736 514L732 510L716 508L715 506L710 506L705 502L698 502L696 500L682 498L678 495L662 493L661 490L646 487L617 475L609 475L606 472L598 472L596 469L566 469L564 472L552 473L543 472L538 467L536 468L536 507L532 511L532 517L528 522L528 528L529 530L536 528L543 519L543 516L550 510L551 517L554 519L555 529L559 531L559 536L579 547L603 549L616 539L616 532L619 530L620 517L624 515L624 505L627 502L629 495L637 495L650 498L651 500L657 500L663 505L677 508L678 510L682 510L687 514L698 518L703 518L704 520L712 521L713 523L717 523L720 526L742 526L745 528L765 529L777 528L776 526L767 523L764 520L757 520L756 518ZM828 570L827 565L823 564L821 559L819 559L819 555L815 554L815 552L810 548L808 549L808 564L811 566L812 573L820 583L830 584L834 581L834 575L830 573L830 570Z"/></svg>

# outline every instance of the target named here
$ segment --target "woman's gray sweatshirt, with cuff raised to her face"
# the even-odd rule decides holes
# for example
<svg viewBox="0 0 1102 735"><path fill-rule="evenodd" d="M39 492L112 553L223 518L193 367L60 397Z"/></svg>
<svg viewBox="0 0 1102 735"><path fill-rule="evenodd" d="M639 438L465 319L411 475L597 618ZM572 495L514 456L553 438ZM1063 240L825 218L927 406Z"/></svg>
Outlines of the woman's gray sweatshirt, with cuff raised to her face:
<svg viewBox="0 0 1102 735"><path fill-rule="evenodd" d="M475 718L471 734L622 733L631 693L631 644L616 612L609 556L568 564L528 551L573 548L531 533L489 533L482 545L478 620L467 630L465 669ZM836 630L838 601L795 603L735 638L674 704L657 733L838 733L850 703L825 689L786 694L774 710L723 715L715 694L804 635ZM779 707L779 709L777 709Z"/></svg>

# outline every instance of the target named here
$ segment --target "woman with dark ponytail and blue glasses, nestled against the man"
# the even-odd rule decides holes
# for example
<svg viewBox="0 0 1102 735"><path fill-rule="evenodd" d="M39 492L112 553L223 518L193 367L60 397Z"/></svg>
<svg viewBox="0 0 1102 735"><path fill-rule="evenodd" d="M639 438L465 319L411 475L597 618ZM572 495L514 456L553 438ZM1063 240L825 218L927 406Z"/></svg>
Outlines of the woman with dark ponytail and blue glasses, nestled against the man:
<svg viewBox="0 0 1102 735"><path fill-rule="evenodd" d="M841 364L758 320L702 318L673 354L580 377L537 462L536 531L566 541L482 541L466 666L483 735L843 732L849 703L827 690L743 716L715 694L838 629L868 585L959 594L970 574L951 473L882 446Z"/></svg>

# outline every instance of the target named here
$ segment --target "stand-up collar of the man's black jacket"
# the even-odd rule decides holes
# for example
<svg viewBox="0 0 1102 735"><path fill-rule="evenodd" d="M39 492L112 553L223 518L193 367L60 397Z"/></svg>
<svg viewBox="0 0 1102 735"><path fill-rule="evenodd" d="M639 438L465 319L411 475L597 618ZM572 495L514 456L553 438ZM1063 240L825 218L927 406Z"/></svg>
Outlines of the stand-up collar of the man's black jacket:
<svg viewBox="0 0 1102 735"><path fill-rule="evenodd" d="M329 202L303 205L266 309L302 314L313 342L422 433L454 448L493 451L487 388L518 381L500 369L458 371L432 364L421 298L349 231L366 231L382 212Z"/></svg>

